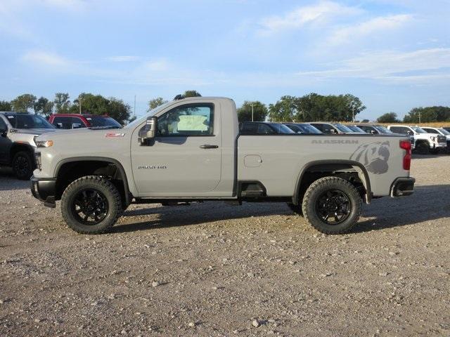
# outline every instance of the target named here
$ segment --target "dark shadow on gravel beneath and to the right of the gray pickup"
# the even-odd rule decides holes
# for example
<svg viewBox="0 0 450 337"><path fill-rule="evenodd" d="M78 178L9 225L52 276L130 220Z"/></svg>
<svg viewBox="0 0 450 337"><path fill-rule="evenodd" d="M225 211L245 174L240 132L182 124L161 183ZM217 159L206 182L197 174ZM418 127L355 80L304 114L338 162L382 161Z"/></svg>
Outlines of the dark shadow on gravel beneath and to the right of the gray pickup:
<svg viewBox="0 0 450 337"><path fill-rule="evenodd" d="M360 220L352 232L383 230L448 218L450 217L450 199L447 195L449 191L450 185L416 186L416 192L409 197L375 199L371 205L364 206L362 216L368 219ZM221 202L205 202L193 206L153 207L124 212L124 217L129 218L148 215L158 215L159 218L157 220L143 219L140 222L118 224L113 227L113 232L182 227L213 223L219 220L252 217L260 218L261 223L264 223L264 216L274 215L297 217L288 206L281 203L244 203L243 206L230 206ZM300 219L293 219L286 224L290 225L295 221L300 221ZM307 224L299 223L299 225Z"/></svg>

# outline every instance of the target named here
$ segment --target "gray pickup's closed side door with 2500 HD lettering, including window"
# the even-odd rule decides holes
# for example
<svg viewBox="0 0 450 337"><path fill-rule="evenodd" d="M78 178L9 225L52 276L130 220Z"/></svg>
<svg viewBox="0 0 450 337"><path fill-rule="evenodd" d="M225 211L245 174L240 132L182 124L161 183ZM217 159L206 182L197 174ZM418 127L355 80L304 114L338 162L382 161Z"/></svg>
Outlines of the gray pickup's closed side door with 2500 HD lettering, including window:
<svg viewBox="0 0 450 337"><path fill-rule="evenodd" d="M134 182L141 196L213 191L221 179L220 107L212 103L179 105L158 117L158 132L150 145L131 140ZM193 194L194 193L194 194Z"/></svg>

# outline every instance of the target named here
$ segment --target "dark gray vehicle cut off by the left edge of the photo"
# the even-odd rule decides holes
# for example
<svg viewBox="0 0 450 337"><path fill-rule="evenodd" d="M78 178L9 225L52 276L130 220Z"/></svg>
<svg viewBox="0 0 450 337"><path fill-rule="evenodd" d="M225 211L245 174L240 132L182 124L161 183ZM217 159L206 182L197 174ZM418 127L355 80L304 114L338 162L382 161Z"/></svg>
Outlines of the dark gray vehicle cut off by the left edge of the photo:
<svg viewBox="0 0 450 337"><path fill-rule="evenodd" d="M30 179L36 168L34 138L48 131L55 127L44 117L0 112L0 164L11 166L17 178Z"/></svg>

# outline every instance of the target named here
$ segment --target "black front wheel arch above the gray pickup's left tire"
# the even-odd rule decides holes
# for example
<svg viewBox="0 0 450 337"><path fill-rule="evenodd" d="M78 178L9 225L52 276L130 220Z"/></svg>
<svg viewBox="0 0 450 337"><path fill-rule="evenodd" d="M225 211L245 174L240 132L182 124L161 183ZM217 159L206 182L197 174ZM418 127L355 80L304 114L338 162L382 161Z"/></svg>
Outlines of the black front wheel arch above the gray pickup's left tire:
<svg viewBox="0 0 450 337"><path fill-rule="evenodd" d="M82 171L82 176L84 175L89 175L91 173L95 173L95 171L97 172L103 172L103 170L101 169L105 169L107 168L107 166L110 166L111 164L113 164L113 166L115 166L115 171L112 172L114 175L114 178L119 178L118 180L122 181L123 187L122 187L122 191L121 188L119 188L122 197L124 198L124 205L129 205L132 199L132 195L131 192L129 190L129 184L128 184L128 179L127 179L127 173L125 172L124 167L122 166L122 164L120 164L120 161L117 161L116 159L113 158L108 158L108 157L72 157L72 158L66 158L63 159L61 161L58 162L58 164L56 164L56 168L55 168L55 172L54 172L54 176L57 178L57 186L56 186L56 199L60 199L60 196L63 192L63 190L65 189L65 187L67 187L68 185L68 180L72 180L72 178L75 177L76 178L80 178L79 175L73 175L70 176L72 178L68 178L68 179L64 179L63 176L65 175L65 173L68 173L68 171L70 169L74 169L77 168L77 166L82 166L83 163L87 163L90 164L87 167L83 167L84 171ZM89 171L94 170L94 172L89 173ZM60 184L58 186L58 180L60 180L60 178L63 178L62 181L60 181ZM73 179L73 180L75 180ZM72 180L72 181L73 181Z"/></svg>

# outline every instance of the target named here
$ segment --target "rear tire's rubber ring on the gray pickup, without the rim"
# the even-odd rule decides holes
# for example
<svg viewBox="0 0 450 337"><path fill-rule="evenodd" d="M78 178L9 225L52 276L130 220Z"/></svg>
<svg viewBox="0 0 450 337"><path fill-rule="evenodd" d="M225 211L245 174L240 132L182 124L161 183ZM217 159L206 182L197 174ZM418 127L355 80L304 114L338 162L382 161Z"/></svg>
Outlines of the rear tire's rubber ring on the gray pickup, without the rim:
<svg viewBox="0 0 450 337"><path fill-rule="evenodd" d="M350 203L349 216L342 222L335 225L329 225L323 221L316 211L316 202L324 192L328 190L338 190L345 194ZM304 193L302 202L302 211L304 218L312 227L325 234L343 234L356 225L361 215L362 199L351 183L338 177L320 178L309 185Z"/></svg>

